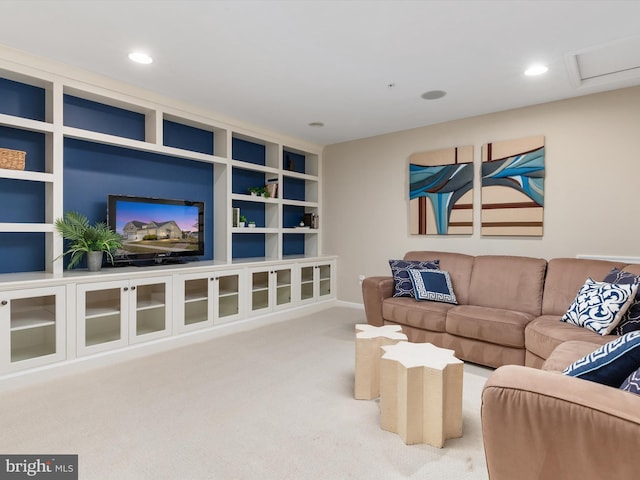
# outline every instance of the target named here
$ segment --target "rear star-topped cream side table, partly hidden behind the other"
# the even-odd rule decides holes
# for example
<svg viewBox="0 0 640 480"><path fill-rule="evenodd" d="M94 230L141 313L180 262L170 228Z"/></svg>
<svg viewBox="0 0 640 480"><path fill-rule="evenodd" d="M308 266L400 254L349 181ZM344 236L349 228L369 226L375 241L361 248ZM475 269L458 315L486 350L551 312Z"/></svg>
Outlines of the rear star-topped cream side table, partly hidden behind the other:
<svg viewBox="0 0 640 480"><path fill-rule="evenodd" d="M372 400L380 396L380 356L383 345L393 345L407 336L400 325L374 327L356 325L356 372L354 396L357 400Z"/></svg>

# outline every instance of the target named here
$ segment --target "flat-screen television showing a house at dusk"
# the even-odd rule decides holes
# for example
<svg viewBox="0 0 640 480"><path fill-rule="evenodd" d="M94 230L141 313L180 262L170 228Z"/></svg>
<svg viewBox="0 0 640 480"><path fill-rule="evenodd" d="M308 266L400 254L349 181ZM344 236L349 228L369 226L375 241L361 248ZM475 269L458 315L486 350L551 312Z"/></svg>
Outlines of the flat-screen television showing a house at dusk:
<svg viewBox="0 0 640 480"><path fill-rule="evenodd" d="M109 195L107 223L122 236L118 264L184 262L204 255L204 202Z"/></svg>

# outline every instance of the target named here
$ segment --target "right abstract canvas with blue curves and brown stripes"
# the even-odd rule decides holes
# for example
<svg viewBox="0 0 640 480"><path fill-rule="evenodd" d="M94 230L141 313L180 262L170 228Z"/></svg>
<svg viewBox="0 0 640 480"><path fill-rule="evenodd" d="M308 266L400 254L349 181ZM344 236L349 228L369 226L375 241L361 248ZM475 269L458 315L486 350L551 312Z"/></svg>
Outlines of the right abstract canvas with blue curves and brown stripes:
<svg viewBox="0 0 640 480"><path fill-rule="evenodd" d="M542 236L544 136L482 146L482 235Z"/></svg>

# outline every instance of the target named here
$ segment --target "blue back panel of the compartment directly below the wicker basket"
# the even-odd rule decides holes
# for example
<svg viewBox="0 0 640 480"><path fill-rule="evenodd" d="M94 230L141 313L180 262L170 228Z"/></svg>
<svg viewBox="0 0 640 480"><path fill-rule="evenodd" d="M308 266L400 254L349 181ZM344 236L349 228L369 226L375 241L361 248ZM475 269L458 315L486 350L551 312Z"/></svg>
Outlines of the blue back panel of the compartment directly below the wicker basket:
<svg viewBox="0 0 640 480"><path fill-rule="evenodd" d="M43 182L0 178L0 223L44 223L46 198Z"/></svg>

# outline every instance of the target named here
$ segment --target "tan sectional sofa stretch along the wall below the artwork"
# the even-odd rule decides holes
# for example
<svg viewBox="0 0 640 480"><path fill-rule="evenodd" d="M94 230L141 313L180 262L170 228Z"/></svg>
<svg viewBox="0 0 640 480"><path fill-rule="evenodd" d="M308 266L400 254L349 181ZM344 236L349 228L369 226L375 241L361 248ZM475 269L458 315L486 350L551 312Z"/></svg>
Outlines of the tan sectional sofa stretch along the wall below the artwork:
<svg viewBox="0 0 640 480"><path fill-rule="evenodd" d="M602 345L615 338L560 322L587 277L601 281L612 268L640 274L623 262L414 251L405 260L439 260L458 304L393 297L393 278L365 278L367 322L401 325L410 341L455 350L458 358L499 367L540 368L563 342Z"/></svg>

